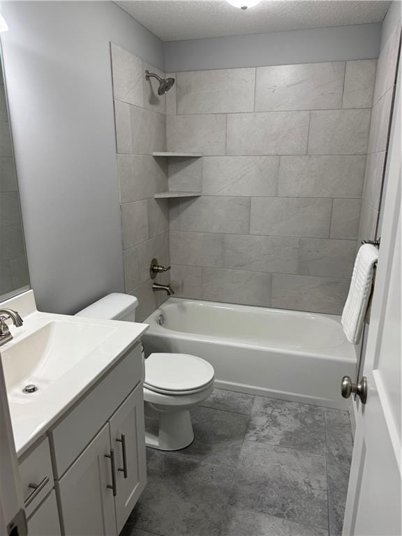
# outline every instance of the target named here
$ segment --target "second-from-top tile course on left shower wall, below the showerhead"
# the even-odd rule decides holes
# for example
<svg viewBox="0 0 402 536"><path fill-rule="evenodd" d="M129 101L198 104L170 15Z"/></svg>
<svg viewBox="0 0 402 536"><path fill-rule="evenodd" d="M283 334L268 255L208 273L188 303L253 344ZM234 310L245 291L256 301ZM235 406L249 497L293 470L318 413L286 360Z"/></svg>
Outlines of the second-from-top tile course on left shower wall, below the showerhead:
<svg viewBox="0 0 402 536"><path fill-rule="evenodd" d="M165 116L120 101L114 101L117 152L152 154L165 151Z"/></svg>

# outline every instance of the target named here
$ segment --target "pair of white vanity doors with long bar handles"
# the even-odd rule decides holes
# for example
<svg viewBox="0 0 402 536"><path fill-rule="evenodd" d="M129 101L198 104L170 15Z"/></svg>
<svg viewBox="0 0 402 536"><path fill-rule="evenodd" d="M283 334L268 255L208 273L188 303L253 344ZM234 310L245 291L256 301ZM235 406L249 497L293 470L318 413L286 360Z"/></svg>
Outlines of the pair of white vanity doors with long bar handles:
<svg viewBox="0 0 402 536"><path fill-rule="evenodd" d="M142 385L57 482L66 536L120 533L147 481Z"/></svg>

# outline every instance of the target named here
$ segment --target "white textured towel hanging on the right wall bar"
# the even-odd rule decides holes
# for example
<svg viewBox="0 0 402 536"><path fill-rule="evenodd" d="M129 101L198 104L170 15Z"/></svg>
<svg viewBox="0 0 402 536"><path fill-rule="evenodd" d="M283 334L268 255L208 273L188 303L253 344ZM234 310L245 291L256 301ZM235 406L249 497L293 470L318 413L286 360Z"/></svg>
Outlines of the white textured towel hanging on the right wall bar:
<svg viewBox="0 0 402 536"><path fill-rule="evenodd" d="M352 344L358 344L362 336L364 316L373 281L373 270L377 260L378 248L371 244L364 244L359 248L341 319L346 338Z"/></svg>

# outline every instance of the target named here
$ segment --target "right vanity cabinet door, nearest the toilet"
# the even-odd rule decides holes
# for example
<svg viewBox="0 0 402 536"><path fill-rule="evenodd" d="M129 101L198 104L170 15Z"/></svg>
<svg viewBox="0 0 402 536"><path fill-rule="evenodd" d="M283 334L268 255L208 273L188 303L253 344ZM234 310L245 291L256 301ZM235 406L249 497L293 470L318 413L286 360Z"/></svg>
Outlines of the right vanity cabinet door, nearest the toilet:
<svg viewBox="0 0 402 536"><path fill-rule="evenodd" d="M116 452L117 496L114 502L119 533L147 484L142 384L110 419L110 440Z"/></svg>

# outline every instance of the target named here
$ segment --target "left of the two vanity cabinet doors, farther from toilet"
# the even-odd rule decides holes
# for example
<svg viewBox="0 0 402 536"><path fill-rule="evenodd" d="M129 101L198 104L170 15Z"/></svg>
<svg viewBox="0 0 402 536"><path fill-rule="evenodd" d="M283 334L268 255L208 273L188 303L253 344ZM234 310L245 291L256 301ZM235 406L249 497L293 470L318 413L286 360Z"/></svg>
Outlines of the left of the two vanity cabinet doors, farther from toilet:
<svg viewBox="0 0 402 536"><path fill-rule="evenodd" d="M116 535L109 425L96 435L57 483L66 536Z"/></svg>

